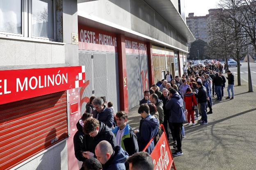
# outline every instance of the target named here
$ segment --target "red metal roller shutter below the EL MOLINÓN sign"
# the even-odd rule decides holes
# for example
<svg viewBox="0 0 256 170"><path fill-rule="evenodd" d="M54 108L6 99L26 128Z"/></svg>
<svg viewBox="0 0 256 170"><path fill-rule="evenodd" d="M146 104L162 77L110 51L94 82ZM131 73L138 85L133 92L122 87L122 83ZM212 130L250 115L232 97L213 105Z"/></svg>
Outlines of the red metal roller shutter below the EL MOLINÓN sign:
<svg viewBox="0 0 256 170"><path fill-rule="evenodd" d="M68 137L66 91L0 105L0 169Z"/></svg>

